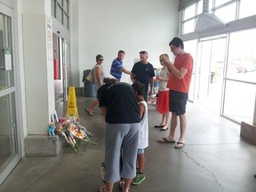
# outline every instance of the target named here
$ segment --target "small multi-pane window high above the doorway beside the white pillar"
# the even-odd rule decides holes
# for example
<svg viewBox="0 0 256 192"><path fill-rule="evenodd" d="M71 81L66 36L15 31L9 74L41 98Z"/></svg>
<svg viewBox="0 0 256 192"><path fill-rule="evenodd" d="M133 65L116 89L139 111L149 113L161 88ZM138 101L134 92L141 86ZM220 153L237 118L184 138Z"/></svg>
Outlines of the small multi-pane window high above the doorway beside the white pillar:
<svg viewBox="0 0 256 192"><path fill-rule="evenodd" d="M69 0L52 0L52 16L69 29Z"/></svg>

